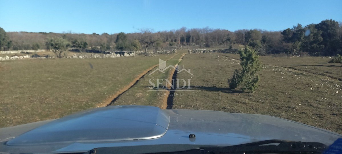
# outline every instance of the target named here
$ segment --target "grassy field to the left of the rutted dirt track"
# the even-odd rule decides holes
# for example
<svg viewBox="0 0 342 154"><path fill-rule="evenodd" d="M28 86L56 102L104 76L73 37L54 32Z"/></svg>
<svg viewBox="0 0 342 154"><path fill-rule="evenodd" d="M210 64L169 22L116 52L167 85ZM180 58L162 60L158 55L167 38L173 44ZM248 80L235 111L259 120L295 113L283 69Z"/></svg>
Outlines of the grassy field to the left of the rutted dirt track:
<svg viewBox="0 0 342 154"><path fill-rule="evenodd" d="M34 59L0 62L0 127L95 107L158 64L155 57Z"/></svg>

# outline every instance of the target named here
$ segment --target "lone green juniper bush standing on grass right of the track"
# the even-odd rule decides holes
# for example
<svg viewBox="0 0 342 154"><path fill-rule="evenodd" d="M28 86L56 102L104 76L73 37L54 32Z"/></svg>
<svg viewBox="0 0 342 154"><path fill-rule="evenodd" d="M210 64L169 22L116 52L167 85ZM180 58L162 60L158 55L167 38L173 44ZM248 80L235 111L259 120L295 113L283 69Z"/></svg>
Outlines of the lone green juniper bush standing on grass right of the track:
<svg viewBox="0 0 342 154"><path fill-rule="evenodd" d="M260 80L257 72L261 69L261 63L256 51L249 46L240 50L239 54L242 70L235 69L232 79L228 79L229 88L240 87L244 92L247 90L253 92Z"/></svg>

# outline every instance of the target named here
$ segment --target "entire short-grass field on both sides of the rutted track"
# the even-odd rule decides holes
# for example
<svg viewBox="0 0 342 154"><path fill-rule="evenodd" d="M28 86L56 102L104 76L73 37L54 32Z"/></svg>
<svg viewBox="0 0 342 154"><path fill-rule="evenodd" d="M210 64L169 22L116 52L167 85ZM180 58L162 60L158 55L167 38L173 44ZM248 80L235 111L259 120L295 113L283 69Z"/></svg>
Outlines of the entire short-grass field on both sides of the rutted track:
<svg viewBox="0 0 342 154"><path fill-rule="evenodd" d="M108 102L144 70L179 62L177 55L108 59L48 59L0 62L0 127L58 118ZM342 64L323 57L260 56L263 69L254 93L229 90L227 79L239 68L238 54L186 54L180 64L191 69L194 91L178 91L173 109L216 110L264 114L342 133ZM149 71L151 73L154 69ZM154 76L170 76L165 74ZM165 108L166 90L148 91L142 76L120 92L111 105L151 105ZM177 91L176 91L177 92ZM109 100L110 101L110 100Z"/></svg>

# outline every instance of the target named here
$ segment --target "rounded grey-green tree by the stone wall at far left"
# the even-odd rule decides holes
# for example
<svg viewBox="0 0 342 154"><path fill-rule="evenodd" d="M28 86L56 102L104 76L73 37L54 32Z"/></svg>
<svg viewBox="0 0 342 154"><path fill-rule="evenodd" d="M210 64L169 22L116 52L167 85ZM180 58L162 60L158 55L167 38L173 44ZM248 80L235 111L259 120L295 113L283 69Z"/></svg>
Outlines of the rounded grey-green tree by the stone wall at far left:
<svg viewBox="0 0 342 154"><path fill-rule="evenodd" d="M70 46L69 41L61 38L49 38L45 43L49 50L52 50L58 58L62 58L68 52L67 48Z"/></svg>

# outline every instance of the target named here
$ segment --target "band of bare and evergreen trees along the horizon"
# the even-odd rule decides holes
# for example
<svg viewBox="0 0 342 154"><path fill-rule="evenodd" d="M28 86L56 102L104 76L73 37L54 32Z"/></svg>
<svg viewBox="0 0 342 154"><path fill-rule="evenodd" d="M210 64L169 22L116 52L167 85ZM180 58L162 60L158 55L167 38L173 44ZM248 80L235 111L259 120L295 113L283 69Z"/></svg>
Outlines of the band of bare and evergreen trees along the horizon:
<svg viewBox="0 0 342 154"><path fill-rule="evenodd" d="M342 51L342 25L334 20L302 26L298 24L281 31L260 29L226 29L182 27L177 30L157 31L142 29L137 33L75 34L5 32L0 28L0 50L46 49L51 38L62 38L68 47L93 50L161 50L165 48L203 48L233 44L248 45L258 54L336 55Z"/></svg>

